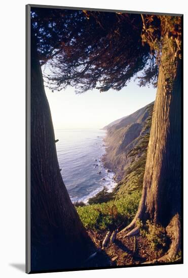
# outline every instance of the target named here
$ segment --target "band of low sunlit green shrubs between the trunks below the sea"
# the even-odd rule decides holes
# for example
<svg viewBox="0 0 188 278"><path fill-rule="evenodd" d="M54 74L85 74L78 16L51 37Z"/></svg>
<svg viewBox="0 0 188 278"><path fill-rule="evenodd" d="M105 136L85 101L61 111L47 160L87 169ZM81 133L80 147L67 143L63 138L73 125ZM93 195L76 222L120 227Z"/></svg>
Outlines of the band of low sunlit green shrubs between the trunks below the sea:
<svg viewBox="0 0 188 278"><path fill-rule="evenodd" d="M86 228L94 230L114 229L122 223L128 224L138 209L140 192L133 192L125 198L107 203L77 207L77 211Z"/></svg>

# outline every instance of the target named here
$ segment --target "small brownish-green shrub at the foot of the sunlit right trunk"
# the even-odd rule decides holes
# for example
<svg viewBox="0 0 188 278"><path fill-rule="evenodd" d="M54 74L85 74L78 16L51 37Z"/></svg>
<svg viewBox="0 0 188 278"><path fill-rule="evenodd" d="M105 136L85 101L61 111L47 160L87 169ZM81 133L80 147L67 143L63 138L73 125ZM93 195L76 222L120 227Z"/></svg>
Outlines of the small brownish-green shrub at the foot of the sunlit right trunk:
<svg viewBox="0 0 188 278"><path fill-rule="evenodd" d="M140 228L140 235L147 238L154 251L159 251L166 246L168 237L163 226L154 224L149 220L143 224L139 219L137 220L137 226Z"/></svg>

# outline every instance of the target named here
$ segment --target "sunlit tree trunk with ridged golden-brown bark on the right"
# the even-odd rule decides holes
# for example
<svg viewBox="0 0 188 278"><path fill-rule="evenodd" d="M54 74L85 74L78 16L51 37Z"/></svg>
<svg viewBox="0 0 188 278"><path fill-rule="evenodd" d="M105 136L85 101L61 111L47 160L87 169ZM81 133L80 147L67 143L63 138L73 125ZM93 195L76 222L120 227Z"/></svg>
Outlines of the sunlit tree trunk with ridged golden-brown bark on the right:
<svg viewBox="0 0 188 278"><path fill-rule="evenodd" d="M181 60L165 27L158 89L149 138L139 218L166 227L171 246L162 260L173 259L180 250L181 233ZM123 231L123 230L122 230Z"/></svg>

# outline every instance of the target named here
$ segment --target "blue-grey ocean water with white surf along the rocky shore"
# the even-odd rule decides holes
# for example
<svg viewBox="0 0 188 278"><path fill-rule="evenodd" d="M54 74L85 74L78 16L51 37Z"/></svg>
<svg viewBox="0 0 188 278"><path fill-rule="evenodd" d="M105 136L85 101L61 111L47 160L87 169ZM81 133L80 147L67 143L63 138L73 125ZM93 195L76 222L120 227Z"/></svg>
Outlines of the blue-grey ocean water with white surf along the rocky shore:
<svg viewBox="0 0 188 278"><path fill-rule="evenodd" d="M100 129L55 130L59 167L72 202L87 203L104 186L110 192L116 185L114 173L107 172L101 162L104 136L105 130Z"/></svg>

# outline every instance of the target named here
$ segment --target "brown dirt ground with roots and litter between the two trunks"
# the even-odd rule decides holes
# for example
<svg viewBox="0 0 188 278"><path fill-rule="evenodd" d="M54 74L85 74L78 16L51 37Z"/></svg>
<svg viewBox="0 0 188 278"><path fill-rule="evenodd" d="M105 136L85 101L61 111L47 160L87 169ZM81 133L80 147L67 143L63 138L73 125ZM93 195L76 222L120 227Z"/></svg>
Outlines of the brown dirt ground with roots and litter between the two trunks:
<svg viewBox="0 0 188 278"><path fill-rule="evenodd" d="M89 267L104 267L116 265L142 264L156 260L163 255L161 252L154 252L149 246L147 239L139 235L125 237L118 235L114 243L109 243L102 250L102 242L106 233L100 234L93 230L87 231L98 252L87 261Z"/></svg>

